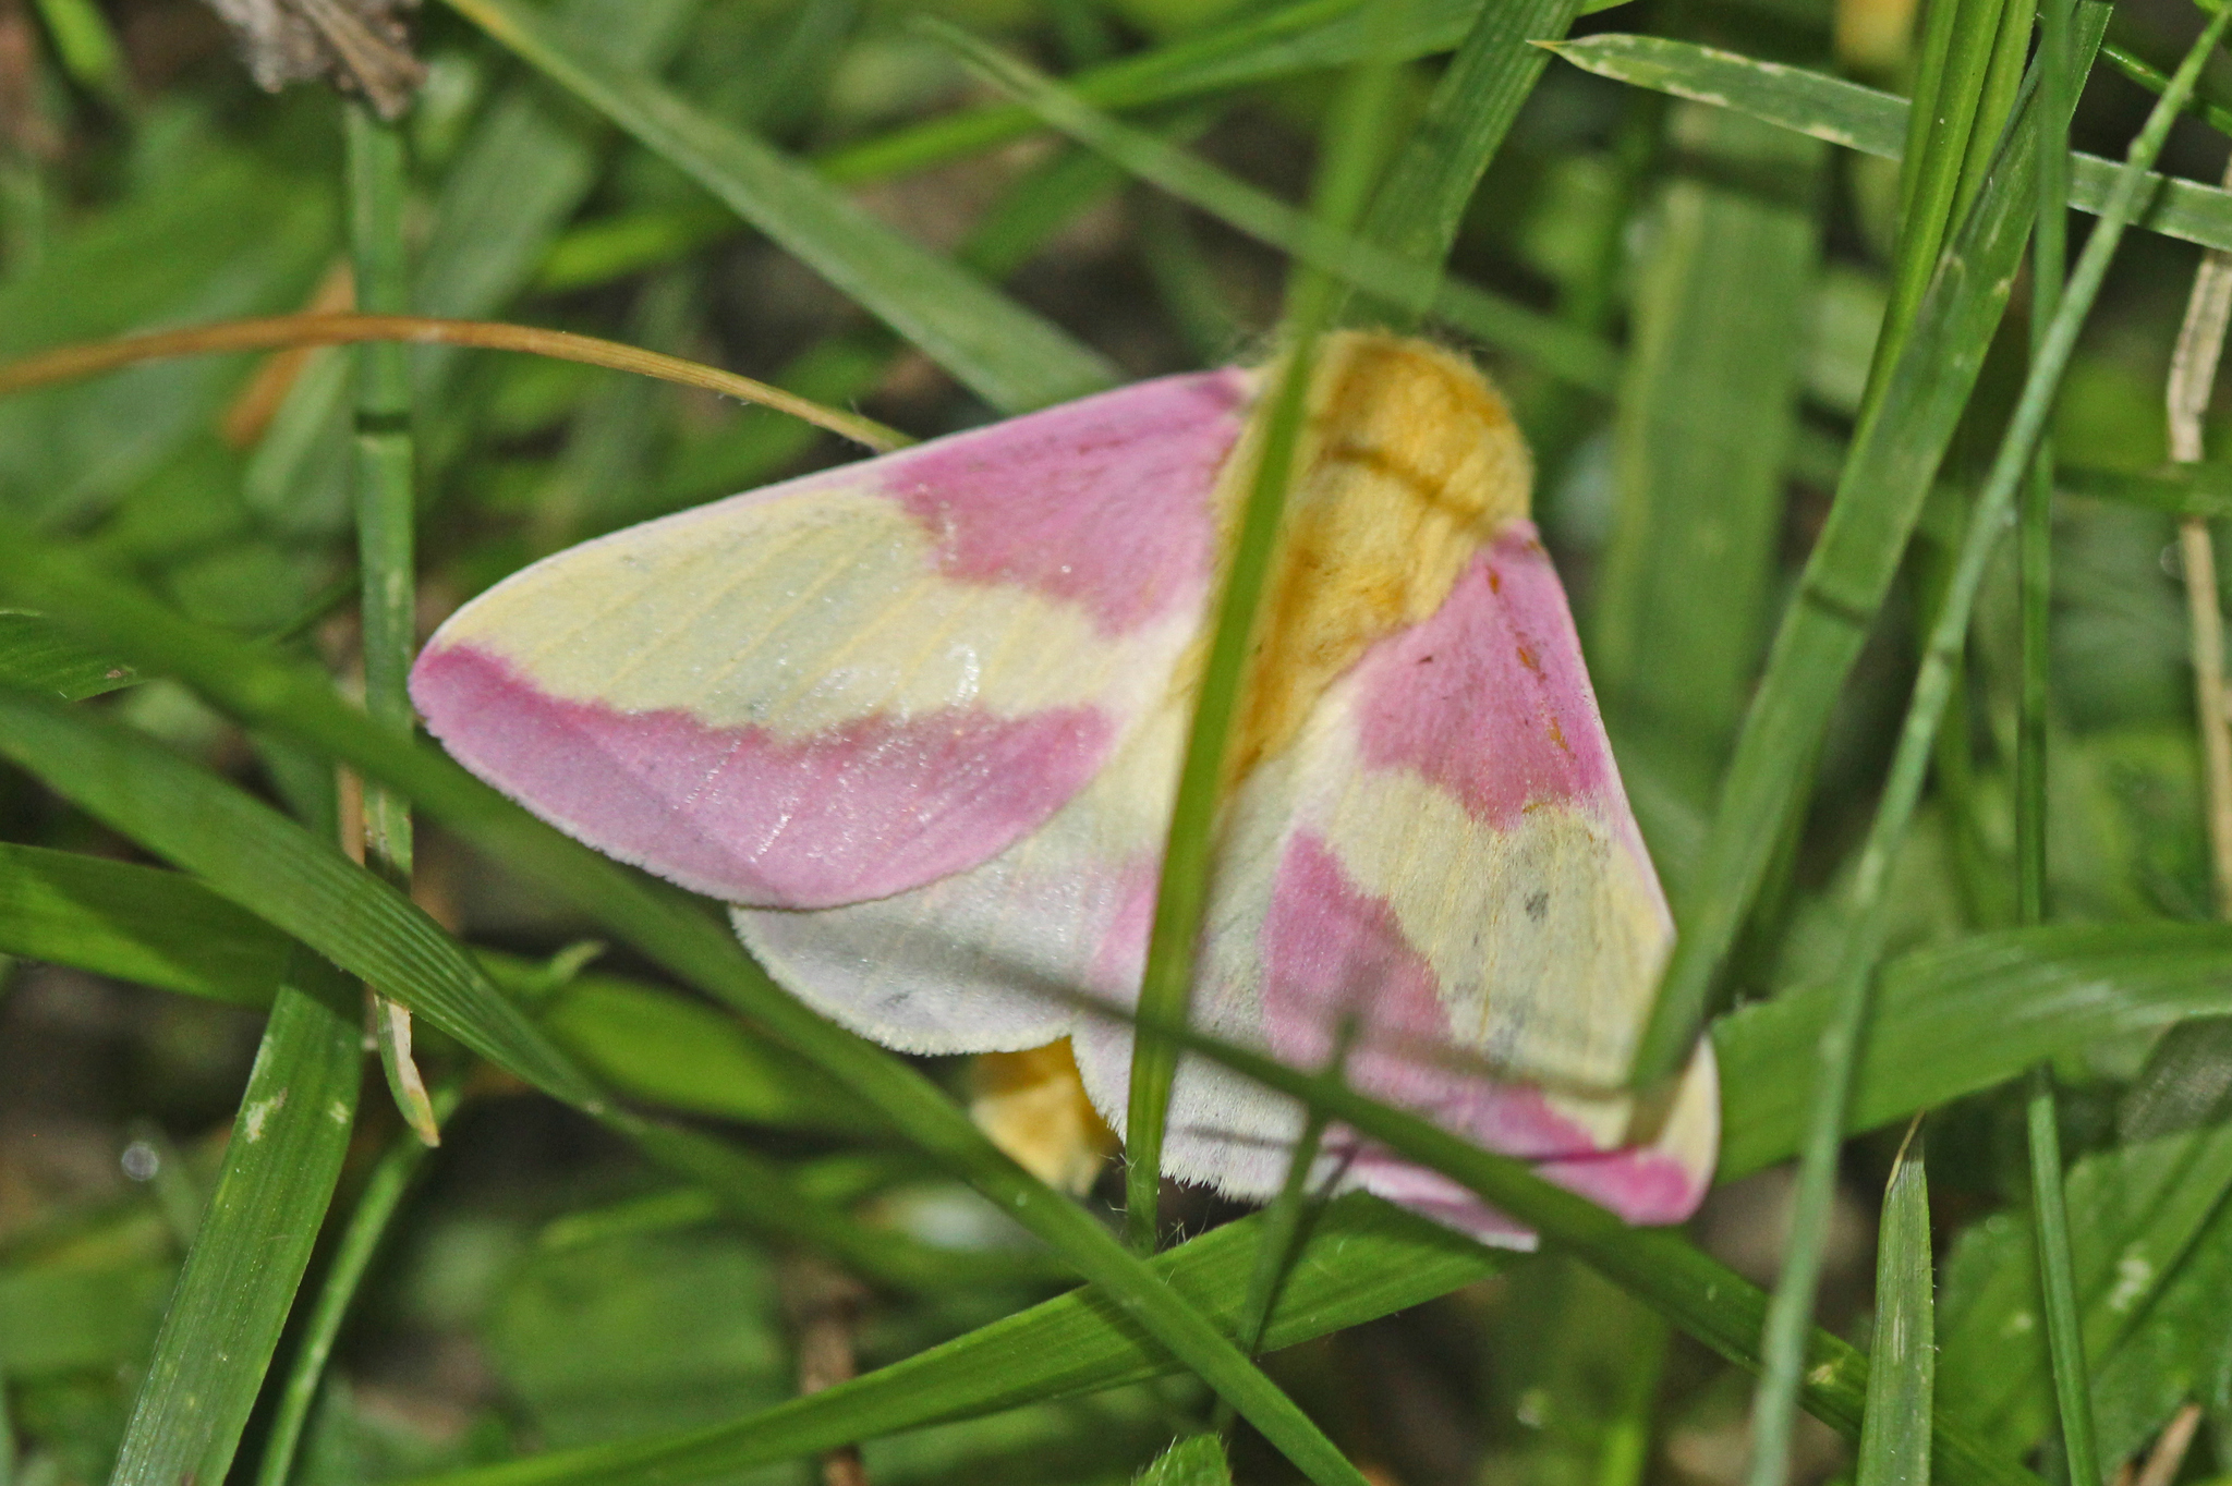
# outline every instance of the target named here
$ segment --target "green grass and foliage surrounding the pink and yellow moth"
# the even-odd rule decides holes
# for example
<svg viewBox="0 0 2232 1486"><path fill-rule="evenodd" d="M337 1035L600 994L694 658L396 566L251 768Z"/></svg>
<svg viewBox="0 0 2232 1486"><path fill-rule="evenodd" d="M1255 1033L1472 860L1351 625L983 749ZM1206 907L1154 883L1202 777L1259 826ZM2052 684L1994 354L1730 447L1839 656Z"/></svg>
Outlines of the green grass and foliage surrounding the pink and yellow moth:
<svg viewBox="0 0 2232 1486"><path fill-rule="evenodd" d="M2178 1479L2232 1470L2232 926L2174 544L2232 466L2163 437L2194 268L2232 250L2232 62L2174 181L2118 196L2203 16L2076 7L2069 261L2096 216L2129 232L2029 388L2040 705L2015 542L1964 529L2051 361L2020 266L2053 89L2029 4L1866 42L1886 9L442 0L391 129L257 91L194 0L0 4L0 359L333 308L350 266L364 308L641 344L922 437L1312 317L1469 346L1678 908L1654 1049L1710 1015L1723 1080L1721 1189L1632 1232L1259 1067L1542 1252L1167 1189L1141 1261L1118 1174L1036 1185L960 1067L828 1029L703 906L406 736L411 636L471 594L855 451L500 353L150 361L0 399L0 1482L788 1482L855 1444L882 1484L1734 1482L1777 1377L1828 1426L1803 1479L2091 1486L2187 1403ZM1949 611L1908 826L1886 776ZM359 779L371 868L339 848ZM366 1078L366 982L417 1013L440 1151ZM1835 1200L1792 1220L1828 1071ZM1790 1245L1821 1330L1786 1290L1777 1363ZM859 1377L799 1397L830 1285Z"/></svg>

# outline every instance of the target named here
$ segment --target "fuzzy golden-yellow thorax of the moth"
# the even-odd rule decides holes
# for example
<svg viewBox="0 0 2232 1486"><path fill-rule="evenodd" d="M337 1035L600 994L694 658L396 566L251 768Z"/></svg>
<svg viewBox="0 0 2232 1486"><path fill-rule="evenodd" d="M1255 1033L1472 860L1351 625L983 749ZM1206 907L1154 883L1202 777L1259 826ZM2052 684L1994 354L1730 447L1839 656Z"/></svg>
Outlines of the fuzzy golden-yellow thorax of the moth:
<svg viewBox="0 0 2232 1486"><path fill-rule="evenodd" d="M1219 491L1228 538L1261 440L1259 404ZM1440 609L1466 560L1527 515L1533 486L1518 424L1469 359L1364 330L1319 344L1295 471L1234 718L1234 781L1292 743L1375 640Z"/></svg>

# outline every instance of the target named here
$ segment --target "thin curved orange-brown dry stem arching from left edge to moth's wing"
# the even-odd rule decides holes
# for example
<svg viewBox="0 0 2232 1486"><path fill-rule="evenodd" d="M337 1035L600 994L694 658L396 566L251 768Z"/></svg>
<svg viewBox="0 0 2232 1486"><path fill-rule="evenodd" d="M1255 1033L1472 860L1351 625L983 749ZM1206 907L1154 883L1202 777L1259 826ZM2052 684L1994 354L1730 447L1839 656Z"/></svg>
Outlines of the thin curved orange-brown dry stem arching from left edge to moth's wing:
<svg viewBox="0 0 2232 1486"><path fill-rule="evenodd" d="M594 335L574 335L571 330L542 330L538 326L511 326L491 319L429 319L424 315L266 315L259 319L225 319L214 326L192 326L187 330L125 335L114 341L85 341L0 366L0 397L136 366L138 361L199 357L223 350L348 346L355 341L480 346L482 350L520 350L560 361L583 361L585 366L658 377L661 382L679 382L681 386L737 397L739 402L754 402L817 428L828 428L837 437L853 440L875 453L913 444L911 437L897 428L886 428L873 417L839 413L819 402L808 402L797 393L786 393L779 386L739 377L703 361L685 361L658 355L656 350L643 350L641 346L605 341Z"/></svg>

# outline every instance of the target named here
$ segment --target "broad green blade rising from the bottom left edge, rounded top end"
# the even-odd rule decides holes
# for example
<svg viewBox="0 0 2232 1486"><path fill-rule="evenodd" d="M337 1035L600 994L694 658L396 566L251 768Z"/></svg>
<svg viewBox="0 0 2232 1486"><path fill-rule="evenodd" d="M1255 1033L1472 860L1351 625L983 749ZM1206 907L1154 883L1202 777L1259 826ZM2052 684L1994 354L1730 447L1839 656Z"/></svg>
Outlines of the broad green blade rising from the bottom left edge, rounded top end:
<svg viewBox="0 0 2232 1486"><path fill-rule="evenodd" d="M288 962L114 1486L225 1479L348 1154L364 1064L357 1000L317 955Z"/></svg>

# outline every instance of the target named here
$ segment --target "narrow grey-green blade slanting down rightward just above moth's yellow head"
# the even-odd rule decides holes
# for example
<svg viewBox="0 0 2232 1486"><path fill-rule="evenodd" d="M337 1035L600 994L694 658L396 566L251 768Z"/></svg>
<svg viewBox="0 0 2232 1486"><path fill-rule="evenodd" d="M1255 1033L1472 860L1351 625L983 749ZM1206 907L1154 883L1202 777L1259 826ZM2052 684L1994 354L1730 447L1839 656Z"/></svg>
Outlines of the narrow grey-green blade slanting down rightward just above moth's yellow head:
<svg viewBox="0 0 2232 1486"><path fill-rule="evenodd" d="M1172 149L1152 134L1109 118L1076 94L964 31L937 20L917 20L915 29L958 51L973 71L1022 98L1051 127L1107 154L1141 181L1279 248L1288 257L1337 274L1377 299L1395 303L1424 299L1442 324L1538 361L1545 370L1580 386L1609 390L1618 377L1618 353L1594 335L1471 283L1444 281L1437 266L1424 268L1337 232L1321 219L1297 212L1199 156Z"/></svg>

